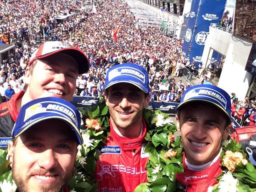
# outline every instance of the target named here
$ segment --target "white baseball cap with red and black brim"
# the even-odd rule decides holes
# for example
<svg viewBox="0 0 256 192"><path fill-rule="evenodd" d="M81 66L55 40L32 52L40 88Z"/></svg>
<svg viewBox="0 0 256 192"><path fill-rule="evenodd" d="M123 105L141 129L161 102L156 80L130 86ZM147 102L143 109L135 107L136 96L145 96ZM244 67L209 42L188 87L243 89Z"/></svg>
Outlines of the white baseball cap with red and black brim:
<svg viewBox="0 0 256 192"><path fill-rule="evenodd" d="M55 53L64 53L71 56L78 65L79 74L86 73L90 67L89 60L82 50L70 47L68 44L60 41L48 41L40 45L30 57L28 66L30 66L36 59L46 58Z"/></svg>

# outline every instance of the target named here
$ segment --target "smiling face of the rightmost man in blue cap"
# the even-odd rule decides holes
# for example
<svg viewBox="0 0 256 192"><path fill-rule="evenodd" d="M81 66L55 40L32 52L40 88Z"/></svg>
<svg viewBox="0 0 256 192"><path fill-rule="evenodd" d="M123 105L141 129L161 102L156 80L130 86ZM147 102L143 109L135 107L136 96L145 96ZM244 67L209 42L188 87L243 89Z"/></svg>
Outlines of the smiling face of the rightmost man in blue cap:
<svg viewBox="0 0 256 192"><path fill-rule="evenodd" d="M224 112L210 104L186 104L177 119L182 144L190 164L202 165L220 152L221 142L228 137ZM223 115L220 115L223 114Z"/></svg>

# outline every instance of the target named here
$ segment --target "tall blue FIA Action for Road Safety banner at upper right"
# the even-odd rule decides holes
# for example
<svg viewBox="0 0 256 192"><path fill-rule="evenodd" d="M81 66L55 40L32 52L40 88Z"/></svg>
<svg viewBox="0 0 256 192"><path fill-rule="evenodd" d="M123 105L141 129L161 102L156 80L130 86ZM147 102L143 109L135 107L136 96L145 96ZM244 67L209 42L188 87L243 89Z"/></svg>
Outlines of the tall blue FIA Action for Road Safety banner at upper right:
<svg viewBox="0 0 256 192"><path fill-rule="evenodd" d="M195 16L193 18L190 16L188 20L188 28L186 30L185 40L182 47L183 53L188 56L190 42L192 41L189 59L190 61L195 60L196 62L201 61L204 44L209 34L210 24L219 23L222 18L226 0L202 0L202 5L198 12L199 2L200 0L192 1L191 14L194 13ZM197 24L194 28L197 14ZM198 63L196 66L198 66Z"/></svg>

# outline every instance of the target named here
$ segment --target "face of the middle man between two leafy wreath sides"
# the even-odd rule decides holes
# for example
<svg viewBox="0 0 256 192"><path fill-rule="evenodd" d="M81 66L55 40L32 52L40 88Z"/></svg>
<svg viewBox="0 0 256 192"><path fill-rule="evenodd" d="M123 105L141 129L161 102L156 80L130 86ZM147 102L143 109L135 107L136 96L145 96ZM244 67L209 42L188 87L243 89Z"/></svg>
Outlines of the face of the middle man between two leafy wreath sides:
<svg viewBox="0 0 256 192"><path fill-rule="evenodd" d="M144 92L130 83L118 83L108 88L105 100L113 124L129 129L141 123L142 111L150 98L145 98Z"/></svg>

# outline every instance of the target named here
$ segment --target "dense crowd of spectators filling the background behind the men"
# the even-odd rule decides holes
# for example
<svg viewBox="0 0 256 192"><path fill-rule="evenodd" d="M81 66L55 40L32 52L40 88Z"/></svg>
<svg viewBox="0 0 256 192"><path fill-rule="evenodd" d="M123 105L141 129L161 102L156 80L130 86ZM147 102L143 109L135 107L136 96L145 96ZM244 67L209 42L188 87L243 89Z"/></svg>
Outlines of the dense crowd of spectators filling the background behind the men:
<svg viewBox="0 0 256 192"><path fill-rule="evenodd" d="M8 55L1 63L0 93L4 101L23 89L24 70L36 48L43 42L56 40L83 50L90 60L90 70L78 77L74 95L97 98L104 94L108 69L126 62L146 68L152 101L180 102L190 83L184 83L182 79L176 82L174 77L184 75L185 69L190 72L186 79L194 75L202 78L202 84L211 84L214 66L209 65L203 71L204 66L200 63L196 69L195 63L182 55L183 41L165 35L160 28L137 29L136 18L126 2L106 0L89 12L83 5L84 1L79 0L0 1L0 43L16 45L15 54ZM71 19L58 23L56 17L66 14L72 14ZM114 41L112 31L118 25L119 35ZM252 122L250 116L254 114L255 101L237 100L233 103L236 104L233 116L238 122ZM241 106L244 106L242 115Z"/></svg>

